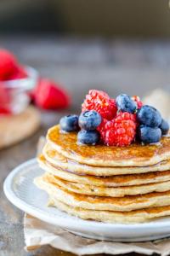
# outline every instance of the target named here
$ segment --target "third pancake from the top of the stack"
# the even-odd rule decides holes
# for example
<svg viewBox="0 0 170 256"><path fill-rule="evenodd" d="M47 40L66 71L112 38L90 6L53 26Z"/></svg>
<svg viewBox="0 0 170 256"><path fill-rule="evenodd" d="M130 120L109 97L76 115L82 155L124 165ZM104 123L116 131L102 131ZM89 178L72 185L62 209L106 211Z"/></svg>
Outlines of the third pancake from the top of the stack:
<svg viewBox="0 0 170 256"><path fill-rule="evenodd" d="M43 155L38 158L38 163L44 171L54 174L55 177L59 177L73 183L81 183L92 186L123 187L170 181L170 171L115 175L110 177L95 177L90 175L77 175L64 171L59 167L52 166L47 160L45 160Z"/></svg>

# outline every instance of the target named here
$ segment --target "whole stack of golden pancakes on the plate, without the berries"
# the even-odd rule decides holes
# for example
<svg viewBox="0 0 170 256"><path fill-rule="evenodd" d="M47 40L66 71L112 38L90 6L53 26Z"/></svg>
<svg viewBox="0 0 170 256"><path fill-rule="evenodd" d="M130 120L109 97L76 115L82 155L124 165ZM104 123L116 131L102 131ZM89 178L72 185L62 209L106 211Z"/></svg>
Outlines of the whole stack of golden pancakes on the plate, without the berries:
<svg viewBox="0 0 170 256"><path fill-rule="evenodd" d="M77 144L77 133L49 129L35 183L49 205L83 219L139 223L170 215L170 137L128 147Z"/></svg>

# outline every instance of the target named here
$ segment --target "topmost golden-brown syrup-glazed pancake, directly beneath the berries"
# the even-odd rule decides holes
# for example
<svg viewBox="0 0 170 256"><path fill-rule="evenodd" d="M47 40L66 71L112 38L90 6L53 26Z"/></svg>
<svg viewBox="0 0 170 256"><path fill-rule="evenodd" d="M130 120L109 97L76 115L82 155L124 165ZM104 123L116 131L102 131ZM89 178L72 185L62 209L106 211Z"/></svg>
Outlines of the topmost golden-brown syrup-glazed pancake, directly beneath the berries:
<svg viewBox="0 0 170 256"><path fill-rule="evenodd" d="M162 137L161 142L154 145L78 145L76 132L61 133L59 125L55 125L48 130L47 139L66 158L90 166L152 166L170 159L170 137Z"/></svg>

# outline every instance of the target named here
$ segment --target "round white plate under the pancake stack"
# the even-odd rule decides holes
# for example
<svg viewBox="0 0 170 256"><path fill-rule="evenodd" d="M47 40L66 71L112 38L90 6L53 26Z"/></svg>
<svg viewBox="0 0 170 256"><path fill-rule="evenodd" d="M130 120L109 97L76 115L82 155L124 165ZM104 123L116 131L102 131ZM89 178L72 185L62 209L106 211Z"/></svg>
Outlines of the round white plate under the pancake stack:
<svg viewBox="0 0 170 256"><path fill-rule="evenodd" d="M80 236L107 241L150 241L170 236L170 218L145 224L105 224L47 207L48 195L33 184L34 177L42 173L35 159L15 168L4 182L8 200L20 210Z"/></svg>

